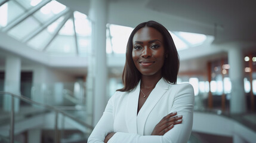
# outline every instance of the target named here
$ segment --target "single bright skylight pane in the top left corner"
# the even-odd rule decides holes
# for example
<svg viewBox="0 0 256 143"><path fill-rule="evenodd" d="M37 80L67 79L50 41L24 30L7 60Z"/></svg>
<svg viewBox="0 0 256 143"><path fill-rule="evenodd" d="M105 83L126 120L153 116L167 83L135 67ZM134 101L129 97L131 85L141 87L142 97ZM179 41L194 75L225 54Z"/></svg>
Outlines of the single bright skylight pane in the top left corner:
<svg viewBox="0 0 256 143"><path fill-rule="evenodd" d="M24 14L24 10L15 2L8 1L0 7L0 13L0 27L5 27L21 14Z"/></svg>

